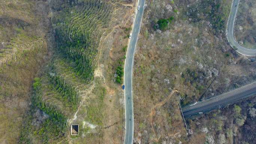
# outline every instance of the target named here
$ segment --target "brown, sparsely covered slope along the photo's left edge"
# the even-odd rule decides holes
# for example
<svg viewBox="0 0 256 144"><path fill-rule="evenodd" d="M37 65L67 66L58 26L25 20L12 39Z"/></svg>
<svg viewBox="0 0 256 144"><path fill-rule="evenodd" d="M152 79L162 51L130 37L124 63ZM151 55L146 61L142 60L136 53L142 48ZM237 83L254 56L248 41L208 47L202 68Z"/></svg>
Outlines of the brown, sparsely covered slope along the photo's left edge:
<svg viewBox="0 0 256 144"><path fill-rule="evenodd" d="M0 3L0 141L14 144L31 104L33 78L50 48L49 9L43 1Z"/></svg>

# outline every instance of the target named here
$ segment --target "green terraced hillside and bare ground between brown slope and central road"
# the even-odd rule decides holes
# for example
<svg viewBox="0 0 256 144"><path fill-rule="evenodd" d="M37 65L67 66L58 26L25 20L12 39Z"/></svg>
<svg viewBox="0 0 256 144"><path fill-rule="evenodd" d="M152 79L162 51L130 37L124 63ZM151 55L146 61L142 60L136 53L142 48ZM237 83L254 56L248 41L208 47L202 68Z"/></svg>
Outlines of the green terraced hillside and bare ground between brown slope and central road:
<svg viewBox="0 0 256 144"><path fill-rule="evenodd" d="M56 48L51 62L34 79L20 144L121 143L122 95L112 67L127 45L131 6L115 2L50 2ZM109 58L112 49L118 56ZM110 73L102 72L104 65ZM71 124L79 124L78 136L70 135Z"/></svg>

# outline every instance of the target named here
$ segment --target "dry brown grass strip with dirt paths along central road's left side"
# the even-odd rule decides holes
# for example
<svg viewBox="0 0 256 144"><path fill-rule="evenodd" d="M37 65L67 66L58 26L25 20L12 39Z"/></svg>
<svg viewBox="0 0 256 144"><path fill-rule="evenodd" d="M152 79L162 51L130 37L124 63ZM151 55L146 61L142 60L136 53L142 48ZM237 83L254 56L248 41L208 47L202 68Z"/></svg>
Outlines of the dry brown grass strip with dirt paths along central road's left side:
<svg viewBox="0 0 256 144"><path fill-rule="evenodd" d="M110 30L101 37L99 45L99 53L96 61L96 68L94 71L94 82L92 88L96 85L106 89L102 111L103 117L102 125L90 123L95 125L95 128L90 128L86 122L85 117L86 105L90 103L90 99L93 99L97 95L93 92L87 93L85 101L80 106L80 110L77 113L77 119L74 121L81 125L81 135L79 137L68 137L66 141L69 143L83 143L86 141L88 144L96 143L109 143L120 144L123 143L123 91L121 85L115 82L115 68L120 58L124 56L122 48L127 45L127 35L125 32L126 27L131 27L131 14L132 7L121 5L120 3L113 3L116 6L114 10L112 22L110 23ZM120 12L121 11L121 12ZM120 15L121 14L121 15ZM111 28L112 27L112 28ZM95 89L97 91L97 89Z"/></svg>

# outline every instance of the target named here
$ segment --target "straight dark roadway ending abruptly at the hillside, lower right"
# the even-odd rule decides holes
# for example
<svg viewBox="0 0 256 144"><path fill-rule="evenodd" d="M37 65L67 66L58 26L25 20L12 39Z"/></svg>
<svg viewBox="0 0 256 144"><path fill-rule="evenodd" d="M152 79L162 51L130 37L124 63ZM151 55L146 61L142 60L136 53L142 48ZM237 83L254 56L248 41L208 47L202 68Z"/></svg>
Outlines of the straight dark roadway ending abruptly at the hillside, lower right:
<svg viewBox="0 0 256 144"><path fill-rule="evenodd" d="M256 95L256 82L234 89L230 92L214 96L213 98L200 101L195 105L187 105L182 107L184 117L189 117L199 113L205 113L207 111L224 107L227 104L232 104L241 99L248 98L249 96Z"/></svg>

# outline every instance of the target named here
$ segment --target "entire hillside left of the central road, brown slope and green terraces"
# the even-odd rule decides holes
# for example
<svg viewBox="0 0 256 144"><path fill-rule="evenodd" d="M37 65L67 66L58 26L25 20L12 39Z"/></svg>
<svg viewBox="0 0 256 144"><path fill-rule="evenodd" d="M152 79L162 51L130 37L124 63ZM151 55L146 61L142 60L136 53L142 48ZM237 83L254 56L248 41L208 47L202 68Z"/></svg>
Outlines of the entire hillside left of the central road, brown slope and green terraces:
<svg viewBox="0 0 256 144"><path fill-rule="evenodd" d="M0 2L1 143L122 143L116 70L123 73L133 4Z"/></svg>

